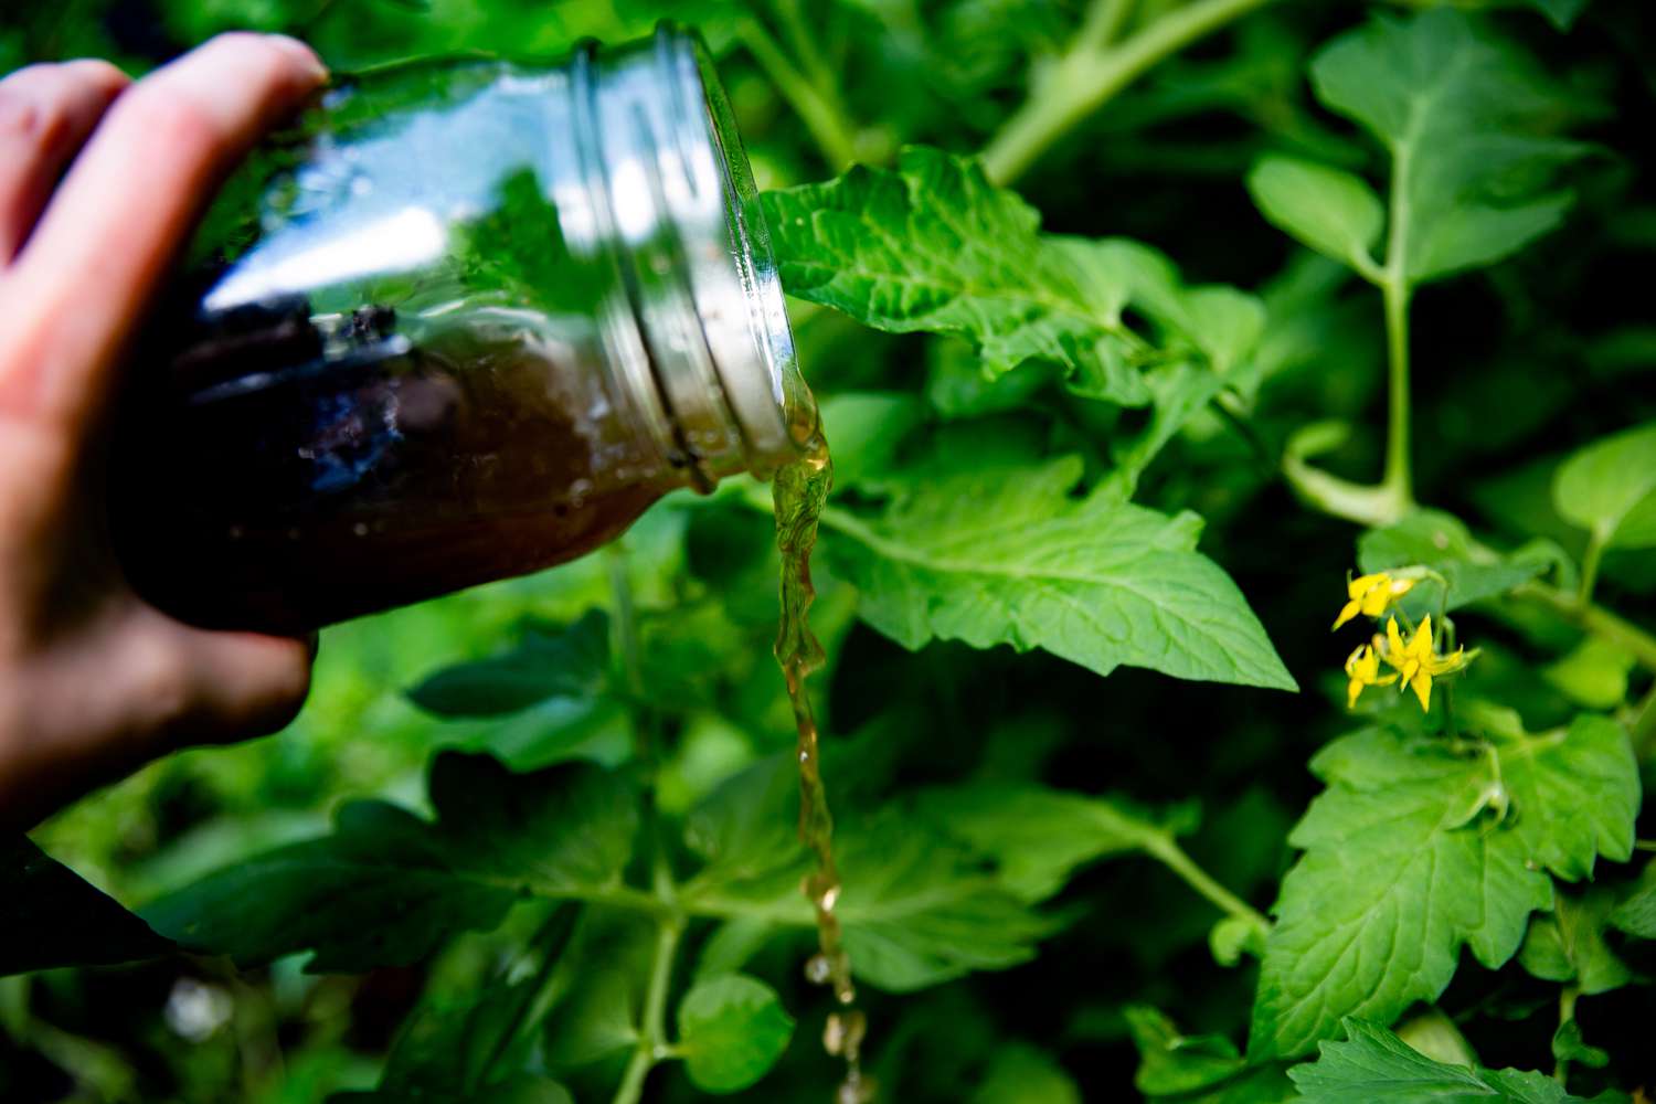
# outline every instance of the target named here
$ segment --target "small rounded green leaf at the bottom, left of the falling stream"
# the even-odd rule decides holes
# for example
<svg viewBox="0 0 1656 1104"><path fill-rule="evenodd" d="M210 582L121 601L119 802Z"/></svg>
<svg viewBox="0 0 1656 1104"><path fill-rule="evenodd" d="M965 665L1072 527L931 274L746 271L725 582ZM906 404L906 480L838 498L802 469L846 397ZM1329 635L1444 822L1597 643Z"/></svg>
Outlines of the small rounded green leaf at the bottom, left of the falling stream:
<svg viewBox="0 0 1656 1104"><path fill-rule="evenodd" d="M740 973L702 982L679 1003L679 1051L691 1081L707 1092L753 1084L792 1038L793 1016L777 991Z"/></svg>

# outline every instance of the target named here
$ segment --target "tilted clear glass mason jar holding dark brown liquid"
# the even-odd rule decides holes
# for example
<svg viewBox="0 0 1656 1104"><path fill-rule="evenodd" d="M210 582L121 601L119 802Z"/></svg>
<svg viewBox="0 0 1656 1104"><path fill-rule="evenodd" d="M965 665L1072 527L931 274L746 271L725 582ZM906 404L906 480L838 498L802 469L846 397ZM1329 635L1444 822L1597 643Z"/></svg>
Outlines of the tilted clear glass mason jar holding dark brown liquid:
<svg viewBox="0 0 1656 1104"><path fill-rule="evenodd" d="M767 477L816 409L729 103L664 25L338 81L209 212L118 422L137 591L301 632Z"/></svg>

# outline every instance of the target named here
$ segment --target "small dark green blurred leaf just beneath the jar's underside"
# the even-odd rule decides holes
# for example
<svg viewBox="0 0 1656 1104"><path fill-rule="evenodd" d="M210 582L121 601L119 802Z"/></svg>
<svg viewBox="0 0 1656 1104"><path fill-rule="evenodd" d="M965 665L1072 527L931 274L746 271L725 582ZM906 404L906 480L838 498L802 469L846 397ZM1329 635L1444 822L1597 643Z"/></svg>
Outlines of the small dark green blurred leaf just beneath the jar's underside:
<svg viewBox="0 0 1656 1104"><path fill-rule="evenodd" d="M503 655L439 670L409 698L439 717L498 717L553 697L596 697L609 672L609 616L586 612L568 629L532 629Z"/></svg>

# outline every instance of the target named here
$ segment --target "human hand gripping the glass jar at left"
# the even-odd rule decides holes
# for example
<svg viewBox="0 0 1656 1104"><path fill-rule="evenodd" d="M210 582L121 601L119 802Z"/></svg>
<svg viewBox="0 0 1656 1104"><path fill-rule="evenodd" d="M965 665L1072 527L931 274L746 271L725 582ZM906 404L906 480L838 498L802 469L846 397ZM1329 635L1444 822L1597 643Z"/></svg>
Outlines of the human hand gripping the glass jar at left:
<svg viewBox="0 0 1656 1104"><path fill-rule="evenodd" d="M310 48L263 35L136 84L103 61L0 79L0 828L176 746L273 732L305 700L305 641L194 629L132 593L101 452L197 217L323 79Z"/></svg>

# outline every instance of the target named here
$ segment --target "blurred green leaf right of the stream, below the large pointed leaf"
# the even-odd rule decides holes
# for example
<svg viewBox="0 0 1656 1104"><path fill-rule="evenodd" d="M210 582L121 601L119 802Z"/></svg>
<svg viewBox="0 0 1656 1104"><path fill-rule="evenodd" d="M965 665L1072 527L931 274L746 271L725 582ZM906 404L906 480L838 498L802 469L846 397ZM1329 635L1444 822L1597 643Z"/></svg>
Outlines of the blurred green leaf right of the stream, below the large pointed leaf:
<svg viewBox="0 0 1656 1104"><path fill-rule="evenodd" d="M995 862L1000 882L1028 902L1058 892L1075 867L1143 851L1194 828L1191 809L1154 816L1123 798L1088 798L1022 783L929 790L919 811Z"/></svg>

